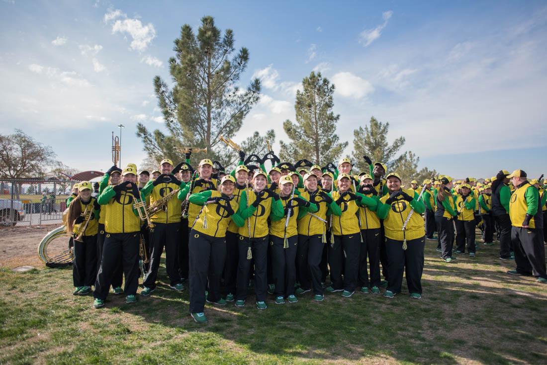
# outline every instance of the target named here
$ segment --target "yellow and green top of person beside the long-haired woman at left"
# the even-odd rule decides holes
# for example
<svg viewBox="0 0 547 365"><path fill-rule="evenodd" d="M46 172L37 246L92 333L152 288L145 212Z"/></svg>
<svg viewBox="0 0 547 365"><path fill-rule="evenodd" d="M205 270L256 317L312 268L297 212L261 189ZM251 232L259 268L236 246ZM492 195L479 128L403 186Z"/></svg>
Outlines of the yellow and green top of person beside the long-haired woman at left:
<svg viewBox="0 0 547 365"><path fill-rule="evenodd" d="M141 230L141 219L138 212L133 209L135 196L130 190L124 188L116 194L113 187L108 186L97 196L97 202L104 205L104 228L107 233L131 233Z"/></svg>

